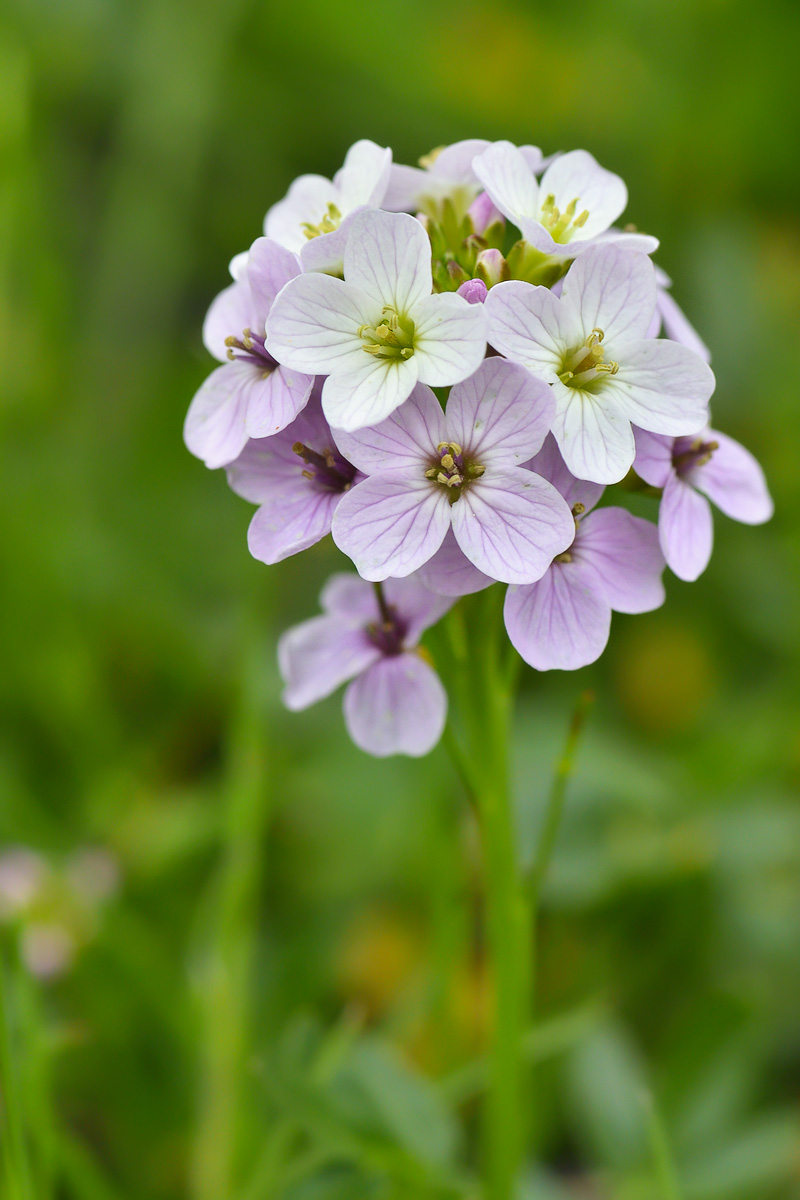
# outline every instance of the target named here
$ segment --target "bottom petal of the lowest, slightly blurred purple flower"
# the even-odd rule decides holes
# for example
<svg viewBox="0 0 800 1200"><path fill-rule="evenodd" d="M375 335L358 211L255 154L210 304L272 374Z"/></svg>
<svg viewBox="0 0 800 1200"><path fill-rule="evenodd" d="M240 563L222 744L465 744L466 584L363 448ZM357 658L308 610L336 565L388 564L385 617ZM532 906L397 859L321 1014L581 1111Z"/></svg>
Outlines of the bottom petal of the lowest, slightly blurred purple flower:
<svg viewBox="0 0 800 1200"><path fill-rule="evenodd" d="M348 733L367 754L420 757L433 750L447 716L438 674L417 654L381 659L344 694Z"/></svg>

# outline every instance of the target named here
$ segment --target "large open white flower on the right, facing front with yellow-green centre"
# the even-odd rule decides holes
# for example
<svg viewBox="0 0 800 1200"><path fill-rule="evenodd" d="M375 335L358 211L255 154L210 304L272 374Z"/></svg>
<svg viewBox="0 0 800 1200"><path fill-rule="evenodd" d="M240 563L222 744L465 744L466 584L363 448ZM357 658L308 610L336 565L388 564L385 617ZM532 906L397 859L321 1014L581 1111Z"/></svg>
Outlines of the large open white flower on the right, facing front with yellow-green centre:
<svg viewBox="0 0 800 1200"><path fill-rule="evenodd" d="M560 298L519 281L486 298L492 344L552 385L553 433L578 479L625 476L632 424L676 437L708 420L711 368L687 347L646 336L655 306L652 263L618 246L576 259Z"/></svg>

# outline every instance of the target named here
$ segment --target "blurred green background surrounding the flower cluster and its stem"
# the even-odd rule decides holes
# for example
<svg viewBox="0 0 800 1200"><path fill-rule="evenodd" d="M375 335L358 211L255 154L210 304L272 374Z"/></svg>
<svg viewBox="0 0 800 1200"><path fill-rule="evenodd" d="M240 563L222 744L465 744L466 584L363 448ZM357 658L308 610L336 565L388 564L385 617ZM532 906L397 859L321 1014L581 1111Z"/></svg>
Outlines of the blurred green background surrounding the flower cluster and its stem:
<svg viewBox="0 0 800 1200"><path fill-rule="evenodd" d="M441 750L361 755L337 697L281 709L276 637L343 560L252 560L181 425L295 175L474 136L625 178L776 500L717 517L705 575L615 616L600 664L524 673L525 853L597 696L545 890L530 1196L673 1200L643 1090L687 1200L800 1196L799 54L780 0L4 0L0 839L119 871L54 978L0 930L8 1196L473 1194L463 798Z"/></svg>

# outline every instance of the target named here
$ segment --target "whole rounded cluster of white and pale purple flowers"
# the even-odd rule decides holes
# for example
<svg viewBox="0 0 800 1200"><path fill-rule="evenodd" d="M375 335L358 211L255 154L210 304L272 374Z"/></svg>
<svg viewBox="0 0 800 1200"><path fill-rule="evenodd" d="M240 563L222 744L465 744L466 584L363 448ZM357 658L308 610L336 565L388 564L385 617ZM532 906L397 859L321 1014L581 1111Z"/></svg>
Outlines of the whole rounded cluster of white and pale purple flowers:
<svg viewBox="0 0 800 1200"><path fill-rule="evenodd" d="M281 640L290 708L350 680L357 745L426 754L446 694L419 641L458 596L507 584L522 658L575 670L612 611L662 604L664 565L705 569L708 499L771 515L756 460L709 427L709 354L657 240L614 227L626 203L584 150L470 139L411 168L365 140L230 264L186 444L258 504L255 558L331 533L359 572ZM657 524L612 485L660 497Z"/></svg>

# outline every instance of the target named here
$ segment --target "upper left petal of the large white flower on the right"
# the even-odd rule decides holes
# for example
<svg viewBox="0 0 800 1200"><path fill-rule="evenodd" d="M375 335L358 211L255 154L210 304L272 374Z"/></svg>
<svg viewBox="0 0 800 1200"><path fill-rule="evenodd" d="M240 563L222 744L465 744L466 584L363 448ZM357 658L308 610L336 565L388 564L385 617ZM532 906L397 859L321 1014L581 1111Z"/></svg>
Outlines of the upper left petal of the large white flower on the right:
<svg viewBox="0 0 800 1200"><path fill-rule="evenodd" d="M585 337L575 314L547 288L519 280L491 288L483 311L495 350L546 383L558 379L567 349Z"/></svg>

